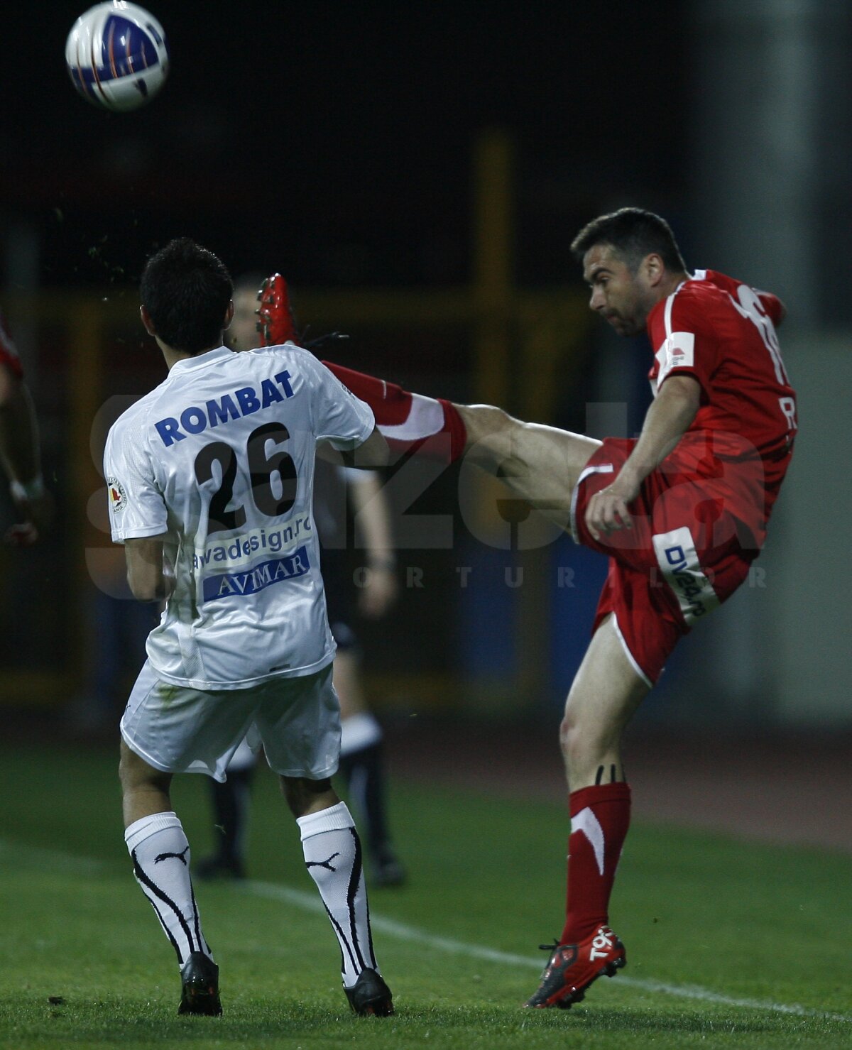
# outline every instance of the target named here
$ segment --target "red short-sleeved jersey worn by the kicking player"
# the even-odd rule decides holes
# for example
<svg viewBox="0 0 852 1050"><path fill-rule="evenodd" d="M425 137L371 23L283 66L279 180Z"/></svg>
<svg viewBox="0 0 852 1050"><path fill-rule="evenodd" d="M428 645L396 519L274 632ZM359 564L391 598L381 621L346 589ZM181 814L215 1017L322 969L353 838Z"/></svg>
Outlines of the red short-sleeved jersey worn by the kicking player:
<svg viewBox="0 0 852 1050"><path fill-rule="evenodd" d="M775 333L782 313L774 295L700 270L648 315L654 394L671 375L701 384L698 414L660 468L701 479L759 547L796 430Z"/></svg>

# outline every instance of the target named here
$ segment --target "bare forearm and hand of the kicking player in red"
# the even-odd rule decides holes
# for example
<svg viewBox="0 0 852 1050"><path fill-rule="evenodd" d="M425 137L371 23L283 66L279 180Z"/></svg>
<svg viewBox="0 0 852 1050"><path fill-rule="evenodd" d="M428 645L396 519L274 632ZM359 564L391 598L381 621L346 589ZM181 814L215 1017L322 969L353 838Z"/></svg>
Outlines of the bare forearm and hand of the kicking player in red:
<svg viewBox="0 0 852 1050"><path fill-rule="evenodd" d="M616 529L631 525L629 504L640 486L677 445L687 430L701 401L701 384L691 376L669 376L645 416L636 447L606 488L591 497L586 510L586 525L600 540Z"/></svg>

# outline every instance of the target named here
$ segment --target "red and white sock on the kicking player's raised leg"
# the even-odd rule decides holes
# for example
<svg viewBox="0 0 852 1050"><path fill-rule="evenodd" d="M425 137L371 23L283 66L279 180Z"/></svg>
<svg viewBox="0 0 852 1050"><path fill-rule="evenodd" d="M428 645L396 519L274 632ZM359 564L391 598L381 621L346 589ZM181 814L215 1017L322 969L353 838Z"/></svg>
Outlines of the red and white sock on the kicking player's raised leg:
<svg viewBox="0 0 852 1050"><path fill-rule="evenodd" d="M427 459L453 463L464 452L467 432L458 410L443 398L410 394L396 383L345 369L332 361L327 369L366 401L376 417L376 426L391 448L416 452Z"/></svg>

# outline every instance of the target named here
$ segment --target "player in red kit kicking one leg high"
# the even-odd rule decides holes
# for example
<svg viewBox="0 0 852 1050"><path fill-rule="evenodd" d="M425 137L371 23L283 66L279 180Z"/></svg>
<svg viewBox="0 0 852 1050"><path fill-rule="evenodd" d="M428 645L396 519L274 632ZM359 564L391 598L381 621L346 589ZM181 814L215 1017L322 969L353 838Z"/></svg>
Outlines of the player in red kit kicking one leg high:
<svg viewBox="0 0 852 1050"><path fill-rule="evenodd" d="M565 925L529 1007L569 1007L625 965L608 917L630 819L622 734L680 637L746 579L796 430L775 296L713 271L690 275L668 224L638 208L596 218L572 249L590 308L620 335L650 337L654 400L636 440L600 442L330 365L389 444L470 457L609 558L560 727L572 818Z"/></svg>

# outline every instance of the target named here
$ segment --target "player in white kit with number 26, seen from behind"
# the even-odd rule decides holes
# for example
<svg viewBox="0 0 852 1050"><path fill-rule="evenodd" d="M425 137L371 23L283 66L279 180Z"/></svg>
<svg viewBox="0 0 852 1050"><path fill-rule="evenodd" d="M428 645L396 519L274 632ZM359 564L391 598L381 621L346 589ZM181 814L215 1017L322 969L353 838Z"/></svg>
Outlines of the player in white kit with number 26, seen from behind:
<svg viewBox="0 0 852 1050"><path fill-rule="evenodd" d="M282 777L352 1008L390 1014L360 841L329 780L339 711L311 516L317 446L378 466L387 444L367 405L308 351L223 345L232 284L211 252L172 240L148 260L140 291L169 374L115 423L104 470L130 588L166 608L122 718L121 782L134 875L181 966L179 1011L222 1007L171 776L223 779L248 733Z"/></svg>

